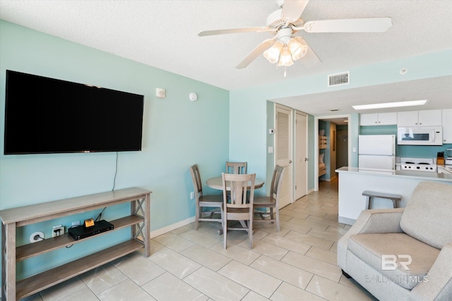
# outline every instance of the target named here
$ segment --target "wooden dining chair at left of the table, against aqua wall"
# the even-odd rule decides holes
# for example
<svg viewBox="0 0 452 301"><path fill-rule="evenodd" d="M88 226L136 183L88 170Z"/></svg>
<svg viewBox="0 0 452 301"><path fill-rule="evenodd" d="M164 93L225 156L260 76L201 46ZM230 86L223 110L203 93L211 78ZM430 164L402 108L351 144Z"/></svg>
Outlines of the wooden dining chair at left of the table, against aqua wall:
<svg viewBox="0 0 452 301"><path fill-rule="evenodd" d="M214 219L214 214L221 214L223 204L222 195L203 195L203 183L199 173L198 164L190 166L191 180L195 190L196 212L195 212L195 230L198 230L198 223L201 221L222 222L222 217ZM206 209L206 210L204 210ZM208 216L203 217L203 214Z"/></svg>

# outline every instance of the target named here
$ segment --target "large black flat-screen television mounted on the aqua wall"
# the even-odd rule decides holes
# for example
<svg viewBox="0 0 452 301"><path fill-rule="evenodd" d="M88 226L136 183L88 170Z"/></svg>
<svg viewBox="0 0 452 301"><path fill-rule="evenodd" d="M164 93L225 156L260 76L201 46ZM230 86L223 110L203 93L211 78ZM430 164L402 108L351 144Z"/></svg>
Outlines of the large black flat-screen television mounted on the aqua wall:
<svg viewBox="0 0 452 301"><path fill-rule="evenodd" d="M6 70L4 154L140 151L143 99Z"/></svg>

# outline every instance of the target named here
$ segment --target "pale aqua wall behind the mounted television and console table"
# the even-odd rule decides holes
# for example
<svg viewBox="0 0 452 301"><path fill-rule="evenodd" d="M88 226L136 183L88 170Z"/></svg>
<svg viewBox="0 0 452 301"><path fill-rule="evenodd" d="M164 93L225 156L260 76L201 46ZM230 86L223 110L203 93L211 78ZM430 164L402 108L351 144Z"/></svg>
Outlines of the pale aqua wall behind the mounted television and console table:
<svg viewBox="0 0 452 301"><path fill-rule="evenodd" d="M10 69L145 95L143 151L119 153L115 189L137 186L153 191L151 231L194 219L189 166L199 164L206 180L218 176L229 158L227 90L3 20L0 41L0 209L112 190L116 161L114 152L5 156L5 75ZM165 99L155 97L156 87L166 89ZM189 101L190 92L198 93L197 102ZM205 192L213 192L209 190L206 186ZM99 211L20 228L18 244L28 243L35 231L49 238L53 225L71 226L71 221L95 218ZM109 207L103 216L114 219L124 211L129 211L124 205ZM18 266L18 278L49 269L70 256L114 245L129 235L127 229L115 231L25 260Z"/></svg>

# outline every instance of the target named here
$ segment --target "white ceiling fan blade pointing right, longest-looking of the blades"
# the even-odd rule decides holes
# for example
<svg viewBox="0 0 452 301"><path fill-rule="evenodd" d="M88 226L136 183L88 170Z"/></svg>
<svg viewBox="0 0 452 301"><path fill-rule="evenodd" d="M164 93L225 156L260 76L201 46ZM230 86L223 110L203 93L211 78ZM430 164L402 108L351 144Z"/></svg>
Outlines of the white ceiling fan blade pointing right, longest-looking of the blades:
<svg viewBox="0 0 452 301"><path fill-rule="evenodd" d="M305 32L385 32L391 18L321 20L304 23Z"/></svg>

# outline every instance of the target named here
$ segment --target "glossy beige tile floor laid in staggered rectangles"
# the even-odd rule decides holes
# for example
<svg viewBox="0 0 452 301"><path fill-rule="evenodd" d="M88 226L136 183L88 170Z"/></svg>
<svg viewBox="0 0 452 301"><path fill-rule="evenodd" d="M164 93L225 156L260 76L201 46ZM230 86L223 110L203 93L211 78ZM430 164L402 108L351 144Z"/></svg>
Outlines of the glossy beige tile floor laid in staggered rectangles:
<svg viewBox="0 0 452 301"><path fill-rule="evenodd" d="M280 211L274 224L228 232L218 223L190 224L151 240L152 255L135 252L27 300L376 300L336 265L337 241L350 226L338 223L338 183Z"/></svg>

